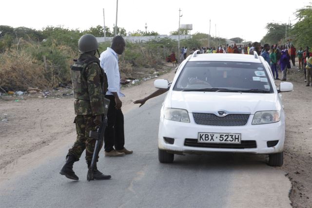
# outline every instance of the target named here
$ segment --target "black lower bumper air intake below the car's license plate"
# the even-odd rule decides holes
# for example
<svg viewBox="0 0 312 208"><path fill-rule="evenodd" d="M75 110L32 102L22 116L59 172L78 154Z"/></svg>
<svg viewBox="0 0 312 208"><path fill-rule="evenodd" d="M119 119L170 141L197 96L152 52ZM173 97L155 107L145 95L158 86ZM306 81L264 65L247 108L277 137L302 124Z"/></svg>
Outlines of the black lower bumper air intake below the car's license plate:
<svg viewBox="0 0 312 208"><path fill-rule="evenodd" d="M242 140L241 144L218 144L218 143L198 143L197 139L185 139L184 146L226 148L226 149L257 148L256 142L254 140Z"/></svg>

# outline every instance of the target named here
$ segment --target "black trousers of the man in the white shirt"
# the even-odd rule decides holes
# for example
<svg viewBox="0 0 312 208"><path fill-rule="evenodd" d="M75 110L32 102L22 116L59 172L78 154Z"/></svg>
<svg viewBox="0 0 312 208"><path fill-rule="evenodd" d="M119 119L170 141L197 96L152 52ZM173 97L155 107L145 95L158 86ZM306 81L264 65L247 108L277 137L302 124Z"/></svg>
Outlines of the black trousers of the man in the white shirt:
<svg viewBox="0 0 312 208"><path fill-rule="evenodd" d="M110 152L114 149L121 150L124 148L125 136L123 129L123 114L121 109L115 108L115 97L113 95L105 95L105 98L110 100L107 120L108 125L104 134L104 149Z"/></svg>

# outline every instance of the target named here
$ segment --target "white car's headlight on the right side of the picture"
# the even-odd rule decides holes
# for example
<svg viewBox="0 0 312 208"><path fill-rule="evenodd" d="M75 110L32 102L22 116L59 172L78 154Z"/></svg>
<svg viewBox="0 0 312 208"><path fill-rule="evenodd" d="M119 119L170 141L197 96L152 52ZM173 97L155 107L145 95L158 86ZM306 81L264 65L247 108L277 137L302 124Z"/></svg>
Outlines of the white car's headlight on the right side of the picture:
<svg viewBox="0 0 312 208"><path fill-rule="evenodd" d="M277 110L258 111L254 114L252 125L271 124L280 121L280 114Z"/></svg>

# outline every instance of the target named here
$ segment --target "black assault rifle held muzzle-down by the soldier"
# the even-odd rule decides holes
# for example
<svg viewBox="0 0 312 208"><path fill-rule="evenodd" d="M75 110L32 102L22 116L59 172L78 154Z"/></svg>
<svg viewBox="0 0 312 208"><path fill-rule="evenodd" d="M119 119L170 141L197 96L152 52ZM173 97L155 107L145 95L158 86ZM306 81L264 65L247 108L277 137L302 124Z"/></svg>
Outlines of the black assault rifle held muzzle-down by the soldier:
<svg viewBox="0 0 312 208"><path fill-rule="evenodd" d="M107 115L108 106L109 106L109 100L104 98L105 114L102 117L102 123L98 126L96 131L90 131L89 132L89 137L92 137L93 139L95 139L96 144L94 146L91 165L89 166L89 170L88 170L88 175L87 175L88 181L91 181L94 179L93 178L94 166L97 163L98 153L100 150L99 147L101 146L101 143L104 140L104 132L105 132L105 128L107 126L107 116L106 115Z"/></svg>

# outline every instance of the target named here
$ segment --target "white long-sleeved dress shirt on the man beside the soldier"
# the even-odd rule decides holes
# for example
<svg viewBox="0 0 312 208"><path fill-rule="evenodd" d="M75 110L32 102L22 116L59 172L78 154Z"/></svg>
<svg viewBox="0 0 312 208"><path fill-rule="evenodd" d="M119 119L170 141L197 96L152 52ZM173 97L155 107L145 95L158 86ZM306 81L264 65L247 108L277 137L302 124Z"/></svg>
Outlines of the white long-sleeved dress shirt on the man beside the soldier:
<svg viewBox="0 0 312 208"><path fill-rule="evenodd" d="M99 60L108 80L108 91L106 95L113 95L112 92L117 92L118 97L124 97L125 95L120 92L120 73L117 53L112 48L107 47L106 51L101 53Z"/></svg>

